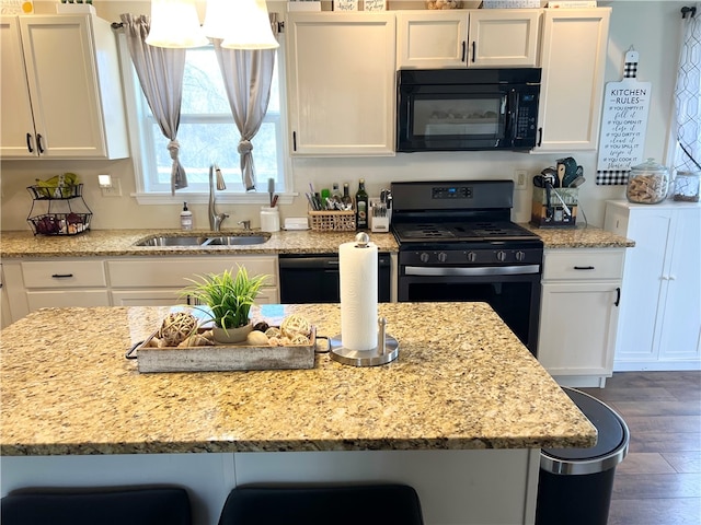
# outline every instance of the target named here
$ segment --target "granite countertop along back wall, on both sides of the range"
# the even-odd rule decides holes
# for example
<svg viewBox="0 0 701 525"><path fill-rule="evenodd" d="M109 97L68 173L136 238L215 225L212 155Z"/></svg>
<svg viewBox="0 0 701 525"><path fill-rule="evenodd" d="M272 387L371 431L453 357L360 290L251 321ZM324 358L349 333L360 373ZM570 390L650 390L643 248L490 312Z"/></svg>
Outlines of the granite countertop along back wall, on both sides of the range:
<svg viewBox="0 0 701 525"><path fill-rule="evenodd" d="M535 228L522 224L537 235L545 248L610 248L630 247L634 243L624 237L605 232L598 228L576 228L568 230ZM188 235L241 234L241 230L212 234L209 231L186 232ZM260 233L253 231L252 233ZM153 255L200 255L200 254L329 254L337 253L338 245L355 238L355 232L281 231L271 234L271 238L256 245L243 246L163 246L145 247L134 244L152 235L181 235L181 230L92 230L71 236L34 236L28 231L11 231L0 234L0 257L110 257L110 256L153 256ZM398 252L399 247L391 233L369 233L370 240L380 252Z"/></svg>

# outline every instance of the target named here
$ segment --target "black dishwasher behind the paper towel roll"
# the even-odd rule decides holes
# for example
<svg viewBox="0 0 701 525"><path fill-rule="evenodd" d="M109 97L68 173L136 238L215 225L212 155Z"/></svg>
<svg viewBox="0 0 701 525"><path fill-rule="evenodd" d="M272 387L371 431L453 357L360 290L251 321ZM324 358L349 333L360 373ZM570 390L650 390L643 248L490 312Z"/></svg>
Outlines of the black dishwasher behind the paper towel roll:
<svg viewBox="0 0 701 525"><path fill-rule="evenodd" d="M280 302L284 304L337 303L340 298L337 254L280 254ZM389 254L378 256L378 300L390 302Z"/></svg>

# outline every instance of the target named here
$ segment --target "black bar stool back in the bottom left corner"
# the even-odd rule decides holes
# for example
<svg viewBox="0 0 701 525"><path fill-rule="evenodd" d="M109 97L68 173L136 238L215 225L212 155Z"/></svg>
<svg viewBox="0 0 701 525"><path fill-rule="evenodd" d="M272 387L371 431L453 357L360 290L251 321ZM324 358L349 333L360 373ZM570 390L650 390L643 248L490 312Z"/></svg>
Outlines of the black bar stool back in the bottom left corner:
<svg viewBox="0 0 701 525"><path fill-rule="evenodd" d="M0 500L2 525L192 525L182 488L19 489Z"/></svg>

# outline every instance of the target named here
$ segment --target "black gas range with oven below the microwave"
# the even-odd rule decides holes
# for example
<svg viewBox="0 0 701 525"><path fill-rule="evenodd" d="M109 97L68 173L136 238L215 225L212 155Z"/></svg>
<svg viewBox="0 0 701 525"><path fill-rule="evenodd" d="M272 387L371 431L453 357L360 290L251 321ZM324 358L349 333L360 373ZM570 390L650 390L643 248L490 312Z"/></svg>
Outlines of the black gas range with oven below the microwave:
<svg viewBox="0 0 701 525"><path fill-rule="evenodd" d="M512 180L392 183L399 301L487 302L533 354L543 243L510 220Z"/></svg>

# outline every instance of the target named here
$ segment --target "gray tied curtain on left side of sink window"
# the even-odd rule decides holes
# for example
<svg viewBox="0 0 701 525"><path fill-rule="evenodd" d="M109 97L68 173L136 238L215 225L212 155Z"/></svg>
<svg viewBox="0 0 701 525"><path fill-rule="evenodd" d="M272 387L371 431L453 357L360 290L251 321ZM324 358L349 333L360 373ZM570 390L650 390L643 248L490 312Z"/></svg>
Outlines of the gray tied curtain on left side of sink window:
<svg viewBox="0 0 701 525"><path fill-rule="evenodd" d="M180 105L183 97L185 49L169 49L146 44L150 16L141 14L119 15L127 37L127 47L136 68L141 90L163 136L170 140L168 151L173 160L171 168L171 195L187 187L185 168L180 163L180 143L176 140L180 126Z"/></svg>

